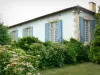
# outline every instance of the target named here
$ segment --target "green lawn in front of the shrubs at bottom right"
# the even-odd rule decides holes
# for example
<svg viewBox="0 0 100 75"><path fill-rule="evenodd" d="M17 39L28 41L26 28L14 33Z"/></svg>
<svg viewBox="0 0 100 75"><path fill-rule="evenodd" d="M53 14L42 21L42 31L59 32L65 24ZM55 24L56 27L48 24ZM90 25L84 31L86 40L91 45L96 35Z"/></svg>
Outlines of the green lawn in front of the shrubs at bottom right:
<svg viewBox="0 0 100 75"><path fill-rule="evenodd" d="M41 75L100 75L100 65L83 63L64 66L63 68L48 69L40 73Z"/></svg>

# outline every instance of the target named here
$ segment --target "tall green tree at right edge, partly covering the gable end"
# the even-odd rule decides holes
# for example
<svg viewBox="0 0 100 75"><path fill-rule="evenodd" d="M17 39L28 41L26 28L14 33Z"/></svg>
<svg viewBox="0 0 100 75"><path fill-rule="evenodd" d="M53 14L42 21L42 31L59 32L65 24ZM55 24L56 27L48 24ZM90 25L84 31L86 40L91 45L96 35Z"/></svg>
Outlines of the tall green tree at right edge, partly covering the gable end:
<svg viewBox="0 0 100 75"><path fill-rule="evenodd" d="M91 61L100 64L100 13L95 15L96 28L94 30L94 39L90 45L89 58Z"/></svg>

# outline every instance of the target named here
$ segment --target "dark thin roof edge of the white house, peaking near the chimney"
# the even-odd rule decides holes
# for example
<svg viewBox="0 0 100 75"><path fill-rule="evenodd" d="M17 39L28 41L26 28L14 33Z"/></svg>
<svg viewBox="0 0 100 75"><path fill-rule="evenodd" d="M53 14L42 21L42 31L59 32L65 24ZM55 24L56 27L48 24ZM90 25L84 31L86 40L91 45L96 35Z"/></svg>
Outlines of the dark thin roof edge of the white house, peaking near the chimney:
<svg viewBox="0 0 100 75"><path fill-rule="evenodd" d="M54 15L54 14L61 13L61 12L64 12L64 11L68 11L68 10L71 10L71 9L77 9L77 10L85 11L85 12L88 12L88 13L93 14L93 15L95 14L95 12L77 5L77 6L65 8L65 9L62 9L62 10L59 10L59 11L56 11L56 12L52 12L52 13L49 13L49 14L46 14L46 15L31 19L31 20L27 20L27 21L24 21L24 22L15 24L15 25L11 25L11 26L9 26L9 29L13 28L13 27L16 27L18 25L21 25L21 24L25 24L25 23L28 23L28 22L31 22L31 21L34 21L34 20L37 20L37 19L40 19L40 18L44 18L44 17L50 16L50 15Z"/></svg>

